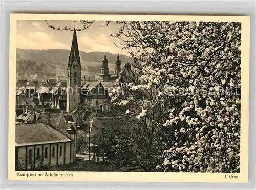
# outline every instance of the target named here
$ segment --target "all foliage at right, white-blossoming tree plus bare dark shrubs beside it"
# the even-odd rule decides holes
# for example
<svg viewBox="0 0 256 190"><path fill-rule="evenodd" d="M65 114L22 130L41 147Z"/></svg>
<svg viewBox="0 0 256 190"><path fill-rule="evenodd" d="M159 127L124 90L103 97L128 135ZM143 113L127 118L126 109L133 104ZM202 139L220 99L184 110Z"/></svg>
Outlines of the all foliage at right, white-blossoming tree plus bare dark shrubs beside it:
<svg viewBox="0 0 256 190"><path fill-rule="evenodd" d="M118 163L145 171L239 172L241 23L116 23L112 36L134 58L118 100L130 104L112 113L131 124L102 135L102 142L110 135L118 140L107 145L124 137Z"/></svg>

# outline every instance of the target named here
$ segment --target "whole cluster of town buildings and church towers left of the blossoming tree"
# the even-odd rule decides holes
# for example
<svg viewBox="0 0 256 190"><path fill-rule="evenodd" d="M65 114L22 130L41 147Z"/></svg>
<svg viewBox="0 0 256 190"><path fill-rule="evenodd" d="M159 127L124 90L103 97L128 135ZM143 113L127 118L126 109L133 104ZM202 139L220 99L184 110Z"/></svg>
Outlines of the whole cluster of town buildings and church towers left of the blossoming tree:
<svg viewBox="0 0 256 190"><path fill-rule="evenodd" d="M123 76L130 70L128 62L121 69L118 55L111 74L105 55L100 81L84 81L74 29L66 80L49 76L42 83L26 79L16 82L16 169L31 170L76 161L78 145L79 152L86 151L79 141L110 125L104 121L111 118L102 117L101 113L110 112L110 101L118 98L116 89L122 86Z"/></svg>

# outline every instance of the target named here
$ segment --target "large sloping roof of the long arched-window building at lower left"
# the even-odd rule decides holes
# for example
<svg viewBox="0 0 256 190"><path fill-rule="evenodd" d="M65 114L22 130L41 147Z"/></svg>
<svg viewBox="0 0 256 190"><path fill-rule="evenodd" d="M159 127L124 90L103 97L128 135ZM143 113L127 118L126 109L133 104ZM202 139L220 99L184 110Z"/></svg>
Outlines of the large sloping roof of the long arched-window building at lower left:
<svg viewBox="0 0 256 190"><path fill-rule="evenodd" d="M68 137L44 123L16 124L16 146L71 141Z"/></svg>

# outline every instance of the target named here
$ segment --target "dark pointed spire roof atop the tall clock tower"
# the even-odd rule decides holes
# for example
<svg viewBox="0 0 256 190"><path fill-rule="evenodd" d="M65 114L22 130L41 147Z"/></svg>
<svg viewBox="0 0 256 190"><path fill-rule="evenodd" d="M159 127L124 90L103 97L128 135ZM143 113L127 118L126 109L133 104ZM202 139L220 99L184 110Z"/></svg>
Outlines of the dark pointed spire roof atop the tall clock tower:
<svg viewBox="0 0 256 190"><path fill-rule="evenodd" d="M74 24L74 25L76 25L76 24ZM69 55L69 66L70 67L73 65L75 60L77 61L78 65L81 68L77 36L76 36L76 28L74 27L72 45L71 45L71 50L70 50L70 55Z"/></svg>

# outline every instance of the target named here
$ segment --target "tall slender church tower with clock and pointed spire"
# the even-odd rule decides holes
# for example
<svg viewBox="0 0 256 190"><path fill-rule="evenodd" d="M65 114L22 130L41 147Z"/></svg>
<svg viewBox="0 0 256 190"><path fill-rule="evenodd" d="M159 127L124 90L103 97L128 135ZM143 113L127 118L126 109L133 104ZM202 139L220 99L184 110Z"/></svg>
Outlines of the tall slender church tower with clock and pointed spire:
<svg viewBox="0 0 256 190"><path fill-rule="evenodd" d="M67 71L67 112L70 113L76 109L81 99L81 62L75 28Z"/></svg>

